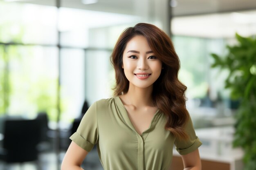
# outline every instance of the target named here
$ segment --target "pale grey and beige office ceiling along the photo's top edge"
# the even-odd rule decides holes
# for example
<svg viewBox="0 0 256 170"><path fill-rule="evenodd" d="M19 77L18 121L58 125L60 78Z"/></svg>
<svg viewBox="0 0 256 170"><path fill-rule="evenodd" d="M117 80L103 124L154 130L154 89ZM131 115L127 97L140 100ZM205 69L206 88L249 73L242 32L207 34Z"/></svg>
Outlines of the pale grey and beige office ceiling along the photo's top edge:
<svg viewBox="0 0 256 170"><path fill-rule="evenodd" d="M8 1L8 0L6 0ZM12 1L12 0L9 0ZM55 0L13 0L19 2L55 5ZM159 0L140 0L152 4ZM205 13L223 13L256 9L256 0L175 0L173 16L198 15ZM82 4L81 0L61 0L61 7L105 11L111 13L134 14L138 0L98 0L95 4ZM168 0L166 0L166 3ZM141 4L141 2L140 2ZM168 4L168 3L167 3ZM167 5L166 4L166 5Z"/></svg>

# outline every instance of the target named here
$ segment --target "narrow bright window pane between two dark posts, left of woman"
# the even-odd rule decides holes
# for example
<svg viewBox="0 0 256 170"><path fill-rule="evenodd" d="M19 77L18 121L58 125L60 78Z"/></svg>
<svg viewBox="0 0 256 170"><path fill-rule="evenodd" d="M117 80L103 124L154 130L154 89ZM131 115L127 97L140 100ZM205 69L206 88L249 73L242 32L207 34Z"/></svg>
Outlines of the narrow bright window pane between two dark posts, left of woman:
<svg viewBox="0 0 256 170"><path fill-rule="evenodd" d="M82 49L61 49L61 120L65 123L81 115L86 60Z"/></svg>

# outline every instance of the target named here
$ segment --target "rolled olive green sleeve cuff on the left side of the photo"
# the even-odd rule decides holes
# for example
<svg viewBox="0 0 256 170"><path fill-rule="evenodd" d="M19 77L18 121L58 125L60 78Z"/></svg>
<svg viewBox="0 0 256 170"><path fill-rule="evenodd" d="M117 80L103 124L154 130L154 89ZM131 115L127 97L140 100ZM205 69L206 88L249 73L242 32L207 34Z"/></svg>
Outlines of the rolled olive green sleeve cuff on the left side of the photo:
<svg viewBox="0 0 256 170"><path fill-rule="evenodd" d="M86 139L84 139L79 133L75 132L70 139L74 141L78 146L83 148L84 150L90 152L94 146L94 144L90 143Z"/></svg>

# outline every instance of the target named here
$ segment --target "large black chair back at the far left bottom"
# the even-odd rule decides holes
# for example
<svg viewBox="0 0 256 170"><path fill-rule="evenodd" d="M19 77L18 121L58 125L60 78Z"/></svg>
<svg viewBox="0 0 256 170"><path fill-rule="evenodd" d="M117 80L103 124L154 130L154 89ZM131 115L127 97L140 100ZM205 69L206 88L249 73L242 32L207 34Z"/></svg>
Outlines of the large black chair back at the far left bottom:
<svg viewBox="0 0 256 170"><path fill-rule="evenodd" d="M0 160L7 164L38 161L40 124L34 120L6 120ZM35 162L37 168L38 162ZM39 168L40 169L40 168Z"/></svg>

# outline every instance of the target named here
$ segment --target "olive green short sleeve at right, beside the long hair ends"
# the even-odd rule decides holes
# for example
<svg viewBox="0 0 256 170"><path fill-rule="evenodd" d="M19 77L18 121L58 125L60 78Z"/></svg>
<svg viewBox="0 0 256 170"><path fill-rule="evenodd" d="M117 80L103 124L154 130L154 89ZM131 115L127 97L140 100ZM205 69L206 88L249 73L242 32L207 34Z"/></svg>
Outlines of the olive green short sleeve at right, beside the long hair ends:
<svg viewBox="0 0 256 170"><path fill-rule="evenodd" d="M193 123L192 123L190 116L189 116L189 121L187 122L187 124L185 126L185 130L186 130L187 134L189 135L189 139L186 141L179 140L179 139L175 140L176 150L180 153L180 155L186 155L190 152L193 152L199 146L202 145L201 141L195 135L195 130L193 128Z"/></svg>

